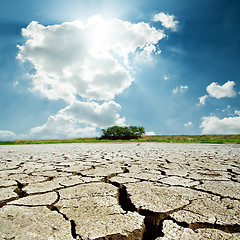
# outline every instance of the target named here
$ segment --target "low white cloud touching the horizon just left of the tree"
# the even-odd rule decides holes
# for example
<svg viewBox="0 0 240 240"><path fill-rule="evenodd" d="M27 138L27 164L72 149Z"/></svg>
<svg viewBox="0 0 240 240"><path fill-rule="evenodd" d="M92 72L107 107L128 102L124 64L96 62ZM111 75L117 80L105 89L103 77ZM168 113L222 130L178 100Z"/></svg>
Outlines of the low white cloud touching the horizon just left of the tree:
<svg viewBox="0 0 240 240"><path fill-rule="evenodd" d="M96 128L82 127L77 121L62 115L50 116L47 123L32 128L29 133L31 139L96 137L98 135Z"/></svg>

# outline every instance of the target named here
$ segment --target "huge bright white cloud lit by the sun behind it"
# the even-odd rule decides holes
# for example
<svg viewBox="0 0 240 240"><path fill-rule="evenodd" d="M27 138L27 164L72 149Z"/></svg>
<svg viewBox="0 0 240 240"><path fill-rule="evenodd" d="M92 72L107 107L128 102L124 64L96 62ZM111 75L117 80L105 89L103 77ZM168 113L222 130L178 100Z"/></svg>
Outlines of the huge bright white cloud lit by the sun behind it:
<svg viewBox="0 0 240 240"><path fill-rule="evenodd" d="M92 17L87 23L65 22L43 26L31 22L22 30L27 38L18 46L18 59L28 60L36 70L32 90L49 99L71 102L76 95L109 100L133 81L128 56L137 50L148 54L165 37L148 23ZM121 60L122 59L122 60ZM125 63L122 64L122 63Z"/></svg>

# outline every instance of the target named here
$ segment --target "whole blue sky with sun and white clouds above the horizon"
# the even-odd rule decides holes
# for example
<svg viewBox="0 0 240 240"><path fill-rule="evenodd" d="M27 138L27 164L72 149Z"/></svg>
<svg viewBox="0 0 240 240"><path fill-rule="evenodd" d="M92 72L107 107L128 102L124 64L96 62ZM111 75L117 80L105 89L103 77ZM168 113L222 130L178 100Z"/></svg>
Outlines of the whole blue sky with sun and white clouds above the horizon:
<svg viewBox="0 0 240 240"><path fill-rule="evenodd" d="M2 0L0 140L240 133L238 0Z"/></svg>

